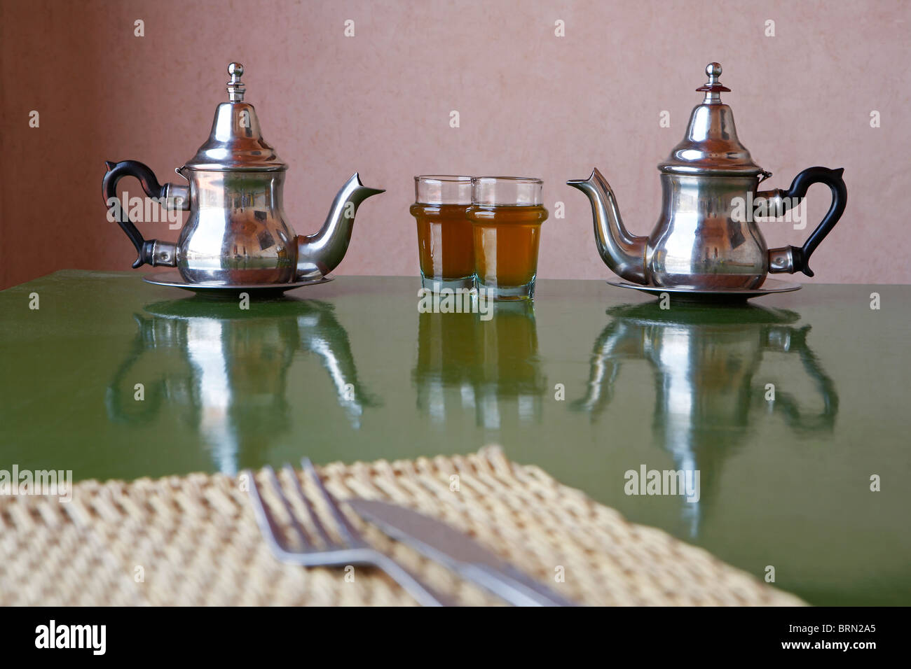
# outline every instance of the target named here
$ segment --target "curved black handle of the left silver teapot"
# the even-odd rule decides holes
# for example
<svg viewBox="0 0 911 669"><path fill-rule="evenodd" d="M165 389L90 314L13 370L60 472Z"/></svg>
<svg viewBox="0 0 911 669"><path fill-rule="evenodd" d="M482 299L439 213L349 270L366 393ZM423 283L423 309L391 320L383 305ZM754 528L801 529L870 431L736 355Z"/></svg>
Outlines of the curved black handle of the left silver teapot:
<svg viewBox="0 0 911 669"><path fill-rule="evenodd" d="M176 184L159 184L158 178L151 168L138 160L121 160L114 163L108 160L105 162L107 172L104 181L101 183L102 195L105 198L105 206L117 211L117 220L120 228L127 233L127 237L133 246L136 247L138 258L133 263L133 269L141 267L144 263L157 266L165 265L168 267L177 266L177 252L174 244L161 242L158 239L144 239L142 233L129 219L127 208L123 206L118 198L117 185L123 177L136 177L142 189L146 191L149 198L163 198L162 203L167 203L168 208L189 208L189 201L179 192ZM176 195L176 197L175 197ZM173 201L172 201L173 200Z"/></svg>

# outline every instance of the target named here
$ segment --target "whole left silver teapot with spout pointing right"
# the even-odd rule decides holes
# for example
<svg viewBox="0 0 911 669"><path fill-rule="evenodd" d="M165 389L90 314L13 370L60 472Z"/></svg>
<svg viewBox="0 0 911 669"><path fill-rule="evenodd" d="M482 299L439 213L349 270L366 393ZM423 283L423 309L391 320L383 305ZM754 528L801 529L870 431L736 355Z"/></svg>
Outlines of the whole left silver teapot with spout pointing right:
<svg viewBox="0 0 911 669"><path fill-rule="evenodd" d="M354 175L333 200L322 228L295 235L282 208L288 166L262 138L253 106L243 101L243 66L228 66L228 102L215 111L208 141L176 169L188 184L159 184L136 160L108 161L103 182L105 203L116 209L120 228L136 247L134 268L176 267L189 283L274 284L320 279L344 258L354 213L364 199L384 192L366 188ZM117 185L136 177L149 198L170 209L189 210L176 244L144 239L118 205Z"/></svg>

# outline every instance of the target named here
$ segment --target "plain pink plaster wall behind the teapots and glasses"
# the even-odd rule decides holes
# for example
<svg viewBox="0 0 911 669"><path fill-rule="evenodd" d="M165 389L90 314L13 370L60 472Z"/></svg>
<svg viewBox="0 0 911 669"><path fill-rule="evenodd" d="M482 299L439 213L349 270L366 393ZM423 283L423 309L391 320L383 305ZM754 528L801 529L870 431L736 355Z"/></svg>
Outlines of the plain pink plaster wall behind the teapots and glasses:
<svg viewBox="0 0 911 669"><path fill-rule="evenodd" d="M364 203L337 273L415 275L412 177L442 172L542 177L548 208L565 202L566 218L545 224L540 276L608 277L589 205L564 182L598 166L628 227L650 231L655 166L715 60L743 144L774 173L763 186L844 167L848 207L811 280L911 283L908 2L3 0L0 12L0 288L56 269L128 269L133 248L100 196L104 161L138 159L176 180L226 99L231 60L291 165L298 232L318 227L354 170L388 190ZM873 110L882 127L870 127ZM827 189L810 200L814 225ZM807 234L764 229L772 246Z"/></svg>

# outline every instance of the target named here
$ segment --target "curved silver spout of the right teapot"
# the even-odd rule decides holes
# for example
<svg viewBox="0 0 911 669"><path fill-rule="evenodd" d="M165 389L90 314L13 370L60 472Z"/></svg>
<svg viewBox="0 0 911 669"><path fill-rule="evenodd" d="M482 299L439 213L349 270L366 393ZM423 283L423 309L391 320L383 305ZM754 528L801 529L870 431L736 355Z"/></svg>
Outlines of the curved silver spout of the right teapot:
<svg viewBox="0 0 911 669"><path fill-rule="evenodd" d="M645 251L649 238L630 235L623 227L617 198L598 169L585 180L573 179L567 185L578 188L591 202L595 220L595 241L604 263L619 277L632 283L648 284L645 272Z"/></svg>

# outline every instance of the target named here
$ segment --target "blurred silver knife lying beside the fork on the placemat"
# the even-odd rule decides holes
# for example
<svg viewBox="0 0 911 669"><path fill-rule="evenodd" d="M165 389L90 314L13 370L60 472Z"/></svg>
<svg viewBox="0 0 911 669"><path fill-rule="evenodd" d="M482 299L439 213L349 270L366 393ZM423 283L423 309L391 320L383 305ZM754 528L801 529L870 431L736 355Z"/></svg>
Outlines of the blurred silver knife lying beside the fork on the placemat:
<svg viewBox="0 0 911 669"><path fill-rule="evenodd" d="M516 606L575 606L537 583L463 532L444 522L387 502L345 500L363 520L425 557Z"/></svg>

